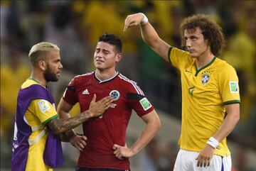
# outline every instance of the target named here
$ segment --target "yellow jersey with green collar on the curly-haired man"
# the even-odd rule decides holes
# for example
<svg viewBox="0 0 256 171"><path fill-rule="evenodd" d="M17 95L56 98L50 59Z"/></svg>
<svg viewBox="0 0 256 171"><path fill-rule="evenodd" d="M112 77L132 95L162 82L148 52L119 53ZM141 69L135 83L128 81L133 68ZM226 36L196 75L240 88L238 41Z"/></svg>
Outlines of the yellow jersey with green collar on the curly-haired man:
<svg viewBox="0 0 256 171"><path fill-rule="evenodd" d="M181 72L182 121L178 144L183 150L199 152L218 131L226 104L240 103L238 76L227 62L214 57L200 70L188 52L170 48L169 60ZM215 155L230 155L226 138Z"/></svg>

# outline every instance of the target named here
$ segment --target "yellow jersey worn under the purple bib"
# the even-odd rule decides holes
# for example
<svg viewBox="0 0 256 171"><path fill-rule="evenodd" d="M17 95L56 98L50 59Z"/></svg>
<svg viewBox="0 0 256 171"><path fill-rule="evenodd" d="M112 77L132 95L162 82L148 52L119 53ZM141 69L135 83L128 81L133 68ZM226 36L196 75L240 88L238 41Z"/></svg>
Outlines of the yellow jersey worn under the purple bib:
<svg viewBox="0 0 256 171"><path fill-rule="evenodd" d="M38 84L33 79L27 79L23 83L21 89ZM52 168L45 165L43 162L43 151L46 146L46 139L48 137L46 123L53 118L57 118L58 114L55 110L55 105L44 99L34 99L28 106L24 120L34 130L28 138L31 144L28 150L28 160L26 163L26 171L41 170L51 171Z"/></svg>

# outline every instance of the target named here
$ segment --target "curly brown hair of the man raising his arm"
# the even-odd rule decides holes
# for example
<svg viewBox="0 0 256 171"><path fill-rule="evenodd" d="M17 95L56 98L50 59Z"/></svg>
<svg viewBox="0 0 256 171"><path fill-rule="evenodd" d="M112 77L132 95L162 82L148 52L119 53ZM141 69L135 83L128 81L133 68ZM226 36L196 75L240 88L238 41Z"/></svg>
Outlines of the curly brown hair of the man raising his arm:
<svg viewBox="0 0 256 171"><path fill-rule="evenodd" d="M204 40L208 40L211 53L215 56L220 55L225 47L223 31L210 16L204 14L196 14L183 20L181 23L181 45L186 47L185 30L193 30L197 27L201 29Z"/></svg>

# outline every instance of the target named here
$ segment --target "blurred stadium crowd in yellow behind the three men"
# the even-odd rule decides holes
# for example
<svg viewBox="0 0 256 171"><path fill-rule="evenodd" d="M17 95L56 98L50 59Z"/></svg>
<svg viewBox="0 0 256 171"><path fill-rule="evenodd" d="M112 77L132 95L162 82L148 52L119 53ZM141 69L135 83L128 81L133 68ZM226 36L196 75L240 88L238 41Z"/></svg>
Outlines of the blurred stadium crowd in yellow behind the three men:
<svg viewBox="0 0 256 171"><path fill-rule="evenodd" d="M102 33L119 35L124 57L118 70L136 81L156 107L162 128L154 140L131 159L132 171L172 170L181 123L179 74L142 41L138 28L123 32L124 19L144 12L161 38L180 47L179 24L194 13L212 16L223 28L227 47L221 58L240 78L241 116L228 136L233 171L256 170L256 1L3 1L1 0L1 170L11 170L16 96L29 77L28 51L41 41L60 47L64 65L59 82L49 84L58 104L75 75L94 69L92 57ZM75 106L72 114L79 113ZM127 143L138 138L144 124L134 114ZM81 131L78 127L77 131ZM78 151L63 143L65 163L57 170L75 170Z"/></svg>

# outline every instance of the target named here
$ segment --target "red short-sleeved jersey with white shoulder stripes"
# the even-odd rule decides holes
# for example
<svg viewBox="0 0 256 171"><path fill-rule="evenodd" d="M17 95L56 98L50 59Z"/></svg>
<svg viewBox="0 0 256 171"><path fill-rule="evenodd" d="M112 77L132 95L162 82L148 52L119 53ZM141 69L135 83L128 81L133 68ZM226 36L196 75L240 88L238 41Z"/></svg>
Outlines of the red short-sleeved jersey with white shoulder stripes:
<svg viewBox="0 0 256 171"><path fill-rule="evenodd" d="M129 170L129 160L119 160L112 149L114 144L125 145L125 137L132 109L142 117L154 110L142 90L127 77L117 73L111 79L101 81L90 72L76 76L68 85L63 99L70 105L79 102L80 109L89 109L93 94L96 101L111 95L111 106L103 116L91 118L82 124L87 145L80 152L78 167L112 168Z"/></svg>

